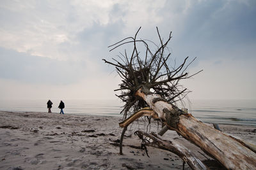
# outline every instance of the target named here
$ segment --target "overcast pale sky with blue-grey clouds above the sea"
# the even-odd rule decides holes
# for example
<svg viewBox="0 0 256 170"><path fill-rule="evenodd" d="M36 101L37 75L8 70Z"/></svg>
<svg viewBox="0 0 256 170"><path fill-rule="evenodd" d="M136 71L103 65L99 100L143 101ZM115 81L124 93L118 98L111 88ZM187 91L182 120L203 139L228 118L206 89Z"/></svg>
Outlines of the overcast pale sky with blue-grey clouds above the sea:
<svg viewBox="0 0 256 170"><path fill-rule="evenodd" d="M102 59L134 36L203 72L182 85L190 99L256 99L255 0L0 2L0 99L116 99L120 78ZM129 50L129 48L127 49Z"/></svg>

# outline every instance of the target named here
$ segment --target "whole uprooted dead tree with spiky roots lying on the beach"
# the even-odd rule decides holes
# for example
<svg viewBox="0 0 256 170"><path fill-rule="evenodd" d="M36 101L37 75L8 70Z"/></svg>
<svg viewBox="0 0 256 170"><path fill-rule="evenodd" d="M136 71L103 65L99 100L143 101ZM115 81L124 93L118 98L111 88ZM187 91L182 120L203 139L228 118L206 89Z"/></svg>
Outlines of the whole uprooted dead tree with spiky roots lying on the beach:
<svg viewBox="0 0 256 170"><path fill-rule="evenodd" d="M227 169L256 169L256 153L246 143L205 125L191 114L185 113L175 106L175 103L182 101L189 92L188 89L180 85L180 80L200 73L200 71L191 75L186 73L186 69L195 59L188 62L188 57L186 57L180 65L170 66L171 53L168 52L167 45L172 38L172 32L164 42L157 29L160 43L158 46L153 43L156 52L152 52L150 50L152 44L148 45L148 42L152 41L136 38L139 31L140 29L134 38L125 38L115 45L109 46L113 47L111 50L114 50L118 46L132 44L131 57L128 57L125 50L124 54L120 53L121 56L118 56L120 61L113 59L115 60L113 63L104 60L115 66L117 73L122 78L120 89L115 90L121 92L117 96L125 103L124 110L121 111L126 119L120 123L120 127L124 127L120 140L120 153L122 153L122 140L127 126L140 117L148 116L161 120L165 125L162 134L168 129L176 131L191 143L199 146L212 158L218 160ZM144 53L139 52L138 43L143 45ZM141 55L143 54L145 56L142 59ZM145 107L149 108L145 109ZM131 113L134 114L131 115ZM130 117L127 118L128 116ZM165 143L158 136L152 136L145 132L140 131L137 134L140 137L147 136L151 139L150 142L147 142L148 146L157 146L176 153L192 169L205 169L202 162L197 161L193 154L186 152L186 149L180 152L179 148L184 148L184 146L170 145L173 142Z"/></svg>

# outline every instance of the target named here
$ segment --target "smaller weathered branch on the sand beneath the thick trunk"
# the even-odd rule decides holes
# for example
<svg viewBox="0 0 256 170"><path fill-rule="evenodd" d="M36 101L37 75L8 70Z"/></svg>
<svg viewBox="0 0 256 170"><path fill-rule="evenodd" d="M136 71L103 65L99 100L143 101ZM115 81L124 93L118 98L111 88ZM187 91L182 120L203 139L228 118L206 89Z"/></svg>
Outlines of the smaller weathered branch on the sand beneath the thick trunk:
<svg viewBox="0 0 256 170"><path fill-rule="evenodd" d="M206 169L200 159L198 159L192 152L176 141L163 141L157 136L157 134L148 134L143 131L136 131L135 134L138 134L139 138L141 139L143 139L143 136L147 136L148 138L152 139L152 142L145 143L147 146L152 146L175 153L182 160L187 162L191 169Z"/></svg>

